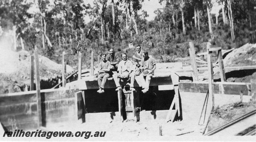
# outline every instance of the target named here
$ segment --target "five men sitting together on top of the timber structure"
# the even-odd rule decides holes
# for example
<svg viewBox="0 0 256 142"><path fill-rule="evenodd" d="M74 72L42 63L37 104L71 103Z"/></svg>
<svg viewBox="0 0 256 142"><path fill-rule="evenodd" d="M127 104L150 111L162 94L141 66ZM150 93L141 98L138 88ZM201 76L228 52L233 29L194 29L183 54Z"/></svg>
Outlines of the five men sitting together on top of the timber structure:
<svg viewBox="0 0 256 142"><path fill-rule="evenodd" d="M109 54L101 54L101 62L99 63L98 93L104 93L104 85L107 78L113 76L116 84L116 91L122 89L120 82L128 82L130 80L130 90L134 91L134 79L142 86L142 92L146 93L149 89L151 77L156 69L156 61L148 56L148 52L141 50L140 45L136 46L136 52L132 56L133 60L128 60L127 54L122 53L122 61L115 54L114 49L110 48ZM117 73L113 73L117 72Z"/></svg>

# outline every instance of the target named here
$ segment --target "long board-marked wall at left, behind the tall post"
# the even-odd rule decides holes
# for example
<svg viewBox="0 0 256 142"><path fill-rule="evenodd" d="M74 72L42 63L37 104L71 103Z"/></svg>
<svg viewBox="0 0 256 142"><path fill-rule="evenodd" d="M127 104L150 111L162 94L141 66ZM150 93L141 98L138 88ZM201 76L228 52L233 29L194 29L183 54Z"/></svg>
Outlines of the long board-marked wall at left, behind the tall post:
<svg viewBox="0 0 256 142"><path fill-rule="evenodd" d="M76 123L77 89L41 90L43 126L56 122ZM36 91L1 94L0 122L7 130L37 128Z"/></svg>

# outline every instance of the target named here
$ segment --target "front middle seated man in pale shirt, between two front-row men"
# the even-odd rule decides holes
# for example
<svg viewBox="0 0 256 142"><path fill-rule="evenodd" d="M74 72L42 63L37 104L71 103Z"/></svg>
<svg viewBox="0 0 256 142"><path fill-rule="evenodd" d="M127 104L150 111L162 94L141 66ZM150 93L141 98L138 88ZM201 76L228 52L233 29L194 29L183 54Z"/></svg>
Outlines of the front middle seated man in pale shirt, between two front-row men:
<svg viewBox="0 0 256 142"><path fill-rule="evenodd" d="M116 83L116 91L121 90L122 87L120 86L120 79L121 81L126 80L128 81L129 79L131 79L131 83L130 83L130 90L134 91L135 89L133 88L133 84L134 84L134 73L132 73L132 61L127 59L127 55L126 53L122 54L122 61L118 64L118 69L117 71L119 73L113 74L113 78L114 81Z"/></svg>

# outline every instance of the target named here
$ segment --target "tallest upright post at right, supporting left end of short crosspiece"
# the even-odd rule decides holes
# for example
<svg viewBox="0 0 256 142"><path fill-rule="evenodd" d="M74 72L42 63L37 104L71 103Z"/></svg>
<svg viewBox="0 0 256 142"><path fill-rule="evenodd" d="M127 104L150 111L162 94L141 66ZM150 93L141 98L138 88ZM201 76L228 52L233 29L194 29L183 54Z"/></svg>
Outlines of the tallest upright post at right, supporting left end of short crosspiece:
<svg viewBox="0 0 256 142"><path fill-rule="evenodd" d="M208 51L211 48L211 43L207 42L207 64L209 71L209 97L212 97L212 108L214 108L214 88L213 88L213 69L212 69L212 51Z"/></svg>

